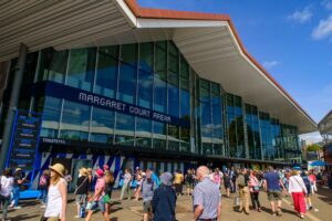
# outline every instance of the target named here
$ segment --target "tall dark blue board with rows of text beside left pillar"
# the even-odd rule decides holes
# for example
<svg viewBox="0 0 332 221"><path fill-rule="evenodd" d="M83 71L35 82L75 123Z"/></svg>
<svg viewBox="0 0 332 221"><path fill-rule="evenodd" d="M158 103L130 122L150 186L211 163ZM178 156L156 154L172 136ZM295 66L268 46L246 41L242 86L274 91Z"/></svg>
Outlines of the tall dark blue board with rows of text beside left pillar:
<svg viewBox="0 0 332 221"><path fill-rule="evenodd" d="M34 170L41 124L41 114L17 110L7 167L19 167L25 172Z"/></svg>

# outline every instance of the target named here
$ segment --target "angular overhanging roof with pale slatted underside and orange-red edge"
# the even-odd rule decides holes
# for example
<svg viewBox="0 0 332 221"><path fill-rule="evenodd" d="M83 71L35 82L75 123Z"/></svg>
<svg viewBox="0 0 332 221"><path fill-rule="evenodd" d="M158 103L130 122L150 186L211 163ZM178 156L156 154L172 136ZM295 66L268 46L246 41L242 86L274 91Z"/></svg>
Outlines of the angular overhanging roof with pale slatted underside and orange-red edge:
<svg viewBox="0 0 332 221"><path fill-rule="evenodd" d="M0 24L0 62L18 56L20 43L32 52L172 40L201 77L300 133L317 130L315 122L247 52L227 14L142 8L136 0L31 0L3 3Z"/></svg>

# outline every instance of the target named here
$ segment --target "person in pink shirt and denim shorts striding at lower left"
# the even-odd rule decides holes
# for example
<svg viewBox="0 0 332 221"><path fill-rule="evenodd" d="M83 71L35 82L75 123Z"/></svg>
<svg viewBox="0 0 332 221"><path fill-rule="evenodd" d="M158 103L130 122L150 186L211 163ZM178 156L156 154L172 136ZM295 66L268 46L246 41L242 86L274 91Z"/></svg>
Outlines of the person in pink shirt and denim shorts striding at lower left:
<svg viewBox="0 0 332 221"><path fill-rule="evenodd" d="M86 206L87 208L87 215L85 218L85 221L90 221L93 211L95 209L100 209L100 211L103 213L105 221L107 220L108 214L105 212L105 202L104 202L104 194L105 194L105 179L104 179L104 171L102 169L97 169L95 171L95 176L97 178L96 183L94 186L94 194L90 199L90 207Z"/></svg>

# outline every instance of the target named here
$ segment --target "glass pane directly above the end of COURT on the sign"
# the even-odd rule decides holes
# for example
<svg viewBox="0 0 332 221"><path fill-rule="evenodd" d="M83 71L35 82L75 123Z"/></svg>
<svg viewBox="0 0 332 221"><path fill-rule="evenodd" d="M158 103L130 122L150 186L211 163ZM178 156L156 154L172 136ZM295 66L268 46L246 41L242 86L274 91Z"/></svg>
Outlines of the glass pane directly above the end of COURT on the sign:
<svg viewBox="0 0 332 221"><path fill-rule="evenodd" d="M138 106L153 107L153 74L149 72L138 72Z"/></svg>

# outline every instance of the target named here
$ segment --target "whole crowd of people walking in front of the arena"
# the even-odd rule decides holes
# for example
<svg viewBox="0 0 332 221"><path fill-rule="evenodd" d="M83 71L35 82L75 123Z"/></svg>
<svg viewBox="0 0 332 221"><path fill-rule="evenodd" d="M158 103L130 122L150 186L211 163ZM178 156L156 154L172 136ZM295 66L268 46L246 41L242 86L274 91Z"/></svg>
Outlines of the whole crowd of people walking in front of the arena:
<svg viewBox="0 0 332 221"><path fill-rule="evenodd" d="M91 220L95 212L103 213L110 220L112 191L115 185L114 172L107 165L103 168L80 168L75 185L75 218ZM282 197L292 197L294 210L303 219L308 210L313 209L311 196L322 181L320 172L305 171L301 168L252 170L234 167L209 169L200 166L186 172L163 172L153 169L125 168L120 172L120 200L132 199L143 202L144 221L175 221L176 201L181 196L193 197L193 220L221 219L221 190L225 197L235 196L238 212L249 215L261 212L260 194L267 192L272 215L282 215ZM41 208L45 208L41 220L61 220L66 217L68 186L72 178L63 165L55 164L44 170L39 178ZM8 208L20 209L20 185L24 182L20 168L14 172L4 169L1 176L0 201L2 220L7 220ZM185 188L184 188L185 187ZM249 207L251 199L251 208Z"/></svg>

